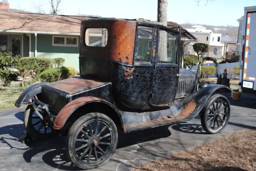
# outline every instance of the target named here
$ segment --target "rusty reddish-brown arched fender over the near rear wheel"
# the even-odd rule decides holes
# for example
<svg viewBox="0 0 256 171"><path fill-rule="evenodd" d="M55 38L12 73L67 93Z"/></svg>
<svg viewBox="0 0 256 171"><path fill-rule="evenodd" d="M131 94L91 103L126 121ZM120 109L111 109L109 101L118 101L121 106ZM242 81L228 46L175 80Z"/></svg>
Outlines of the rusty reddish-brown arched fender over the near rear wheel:
<svg viewBox="0 0 256 171"><path fill-rule="evenodd" d="M70 103L68 103L67 105L65 105L60 112L58 113L58 115L56 116L55 120L54 120L54 129L59 130L63 127L63 125L65 124L66 120L68 119L68 117L76 110L78 109L81 105L88 103L89 101L104 101L106 103L108 103L107 101L100 99L98 97L80 97L78 99L75 99L73 101L71 101Z"/></svg>

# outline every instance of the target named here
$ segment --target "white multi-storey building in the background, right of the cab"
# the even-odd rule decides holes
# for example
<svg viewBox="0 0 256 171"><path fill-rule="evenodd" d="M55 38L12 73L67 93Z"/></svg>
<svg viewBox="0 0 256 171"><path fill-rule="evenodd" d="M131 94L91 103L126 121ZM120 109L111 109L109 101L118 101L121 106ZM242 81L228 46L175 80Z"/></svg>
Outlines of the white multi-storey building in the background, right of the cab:
<svg viewBox="0 0 256 171"><path fill-rule="evenodd" d="M221 34L213 33L212 30L207 30L206 27L203 26L192 26L186 30L198 39L198 43L206 43L210 46L209 52L205 54L205 57L223 57L224 44L220 42ZM193 50L194 43L196 42L192 42L186 46L184 50L185 55L196 55L196 52Z"/></svg>

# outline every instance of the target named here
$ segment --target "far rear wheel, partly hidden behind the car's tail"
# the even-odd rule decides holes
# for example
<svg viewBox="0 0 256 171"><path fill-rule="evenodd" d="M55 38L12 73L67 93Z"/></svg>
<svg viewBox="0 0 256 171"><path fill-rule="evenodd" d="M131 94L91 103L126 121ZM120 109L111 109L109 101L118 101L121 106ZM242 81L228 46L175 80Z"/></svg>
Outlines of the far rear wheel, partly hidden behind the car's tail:
<svg viewBox="0 0 256 171"><path fill-rule="evenodd" d="M58 135L59 132L55 130L52 125L46 128L42 119L40 119L39 116L36 114L34 114L33 116L33 114L34 108L32 107L32 105L28 105L24 112L24 127L26 128L26 131L28 132L28 134L30 134L31 137L33 137L34 139L45 139ZM32 119L36 119L37 121L33 123ZM38 129L40 129L38 130L35 127L38 127ZM42 128L44 130L43 133L40 132Z"/></svg>

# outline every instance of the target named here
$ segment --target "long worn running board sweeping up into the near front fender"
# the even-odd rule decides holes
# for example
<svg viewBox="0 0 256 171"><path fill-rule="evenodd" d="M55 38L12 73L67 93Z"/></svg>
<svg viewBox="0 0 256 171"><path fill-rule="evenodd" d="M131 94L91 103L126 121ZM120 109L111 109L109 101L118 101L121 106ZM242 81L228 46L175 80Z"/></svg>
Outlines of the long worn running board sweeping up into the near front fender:
<svg viewBox="0 0 256 171"><path fill-rule="evenodd" d="M174 101L174 104L167 109L144 113L120 111L124 123L124 132L129 133L191 120L199 114L212 93L221 89L230 90L223 85L211 85L200 91L195 91L184 99Z"/></svg>

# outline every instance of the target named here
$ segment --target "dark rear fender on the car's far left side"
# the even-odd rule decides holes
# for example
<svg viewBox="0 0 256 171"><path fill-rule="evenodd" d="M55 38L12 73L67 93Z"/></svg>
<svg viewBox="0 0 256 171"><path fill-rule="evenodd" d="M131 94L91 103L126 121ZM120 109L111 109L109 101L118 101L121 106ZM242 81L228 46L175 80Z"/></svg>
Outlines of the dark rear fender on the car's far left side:
<svg viewBox="0 0 256 171"><path fill-rule="evenodd" d="M27 98L32 97L36 94L42 93L42 86L47 83L48 82L40 82L26 88L16 100L14 104L15 107L20 107L22 104L27 104L27 101L26 101Z"/></svg>

